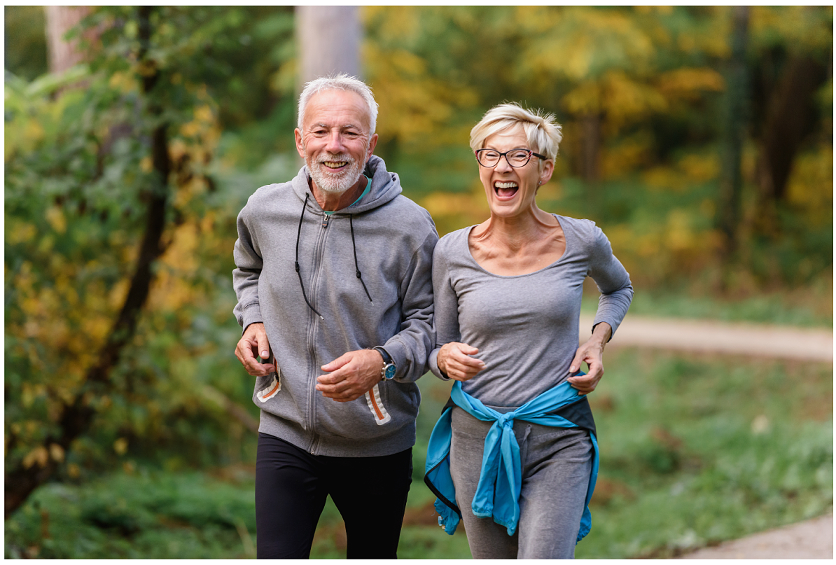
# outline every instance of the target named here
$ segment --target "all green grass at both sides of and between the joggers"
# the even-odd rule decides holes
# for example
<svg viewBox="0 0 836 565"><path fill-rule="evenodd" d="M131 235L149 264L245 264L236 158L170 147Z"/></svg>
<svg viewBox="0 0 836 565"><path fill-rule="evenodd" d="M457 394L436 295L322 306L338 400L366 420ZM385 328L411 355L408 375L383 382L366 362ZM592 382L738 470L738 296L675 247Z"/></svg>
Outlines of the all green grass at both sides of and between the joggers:
<svg viewBox="0 0 836 565"><path fill-rule="evenodd" d="M577 557L675 557L798 522L833 506L833 367L774 360L608 352L590 395L601 471L592 532ZM449 384L419 381L415 481L401 558L469 558L464 532L436 525L426 440ZM5 522L6 557L254 557L252 467L118 472L50 484ZM345 555L326 505L312 557Z"/></svg>

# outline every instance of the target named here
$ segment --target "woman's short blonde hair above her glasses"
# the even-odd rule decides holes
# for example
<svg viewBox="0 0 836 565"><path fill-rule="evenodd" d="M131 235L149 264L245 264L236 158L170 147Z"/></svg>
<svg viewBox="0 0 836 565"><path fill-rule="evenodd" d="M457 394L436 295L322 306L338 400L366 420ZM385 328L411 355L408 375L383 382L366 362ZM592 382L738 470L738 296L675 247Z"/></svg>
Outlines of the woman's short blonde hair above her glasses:
<svg viewBox="0 0 836 565"><path fill-rule="evenodd" d="M499 104L487 110L471 130L471 149L483 149L488 137L512 130L517 125L523 127L531 150L554 160L558 155L558 145L563 140L563 128L554 121L553 114L543 115L541 110L525 109L516 102ZM540 163L543 166L543 161Z"/></svg>

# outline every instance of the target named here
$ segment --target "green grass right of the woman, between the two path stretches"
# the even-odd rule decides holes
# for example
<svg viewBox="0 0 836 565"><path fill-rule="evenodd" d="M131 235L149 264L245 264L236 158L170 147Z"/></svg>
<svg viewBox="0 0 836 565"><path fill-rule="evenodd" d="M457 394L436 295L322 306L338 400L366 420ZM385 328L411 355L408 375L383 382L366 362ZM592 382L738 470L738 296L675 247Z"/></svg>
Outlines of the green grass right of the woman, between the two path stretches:
<svg viewBox="0 0 836 565"><path fill-rule="evenodd" d="M613 352L578 557L674 557L833 506L833 367Z"/></svg>

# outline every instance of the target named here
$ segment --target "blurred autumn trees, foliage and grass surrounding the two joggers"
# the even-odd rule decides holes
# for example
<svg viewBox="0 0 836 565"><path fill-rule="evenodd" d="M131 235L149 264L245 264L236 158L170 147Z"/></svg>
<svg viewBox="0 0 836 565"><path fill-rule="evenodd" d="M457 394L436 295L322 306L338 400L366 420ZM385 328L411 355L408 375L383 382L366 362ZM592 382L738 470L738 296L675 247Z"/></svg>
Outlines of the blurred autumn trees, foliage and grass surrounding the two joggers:
<svg viewBox="0 0 836 565"><path fill-rule="evenodd" d="M254 557L232 246L247 197L301 165L293 7L4 14L5 555ZM469 131L518 101L563 125L539 206L604 229L632 314L832 328L832 7L358 17L375 153L441 235L487 217ZM432 526L421 450L446 389L419 384L400 557L469 557ZM831 364L618 350L590 400L579 557L832 507ZM314 555L344 556L333 506Z"/></svg>

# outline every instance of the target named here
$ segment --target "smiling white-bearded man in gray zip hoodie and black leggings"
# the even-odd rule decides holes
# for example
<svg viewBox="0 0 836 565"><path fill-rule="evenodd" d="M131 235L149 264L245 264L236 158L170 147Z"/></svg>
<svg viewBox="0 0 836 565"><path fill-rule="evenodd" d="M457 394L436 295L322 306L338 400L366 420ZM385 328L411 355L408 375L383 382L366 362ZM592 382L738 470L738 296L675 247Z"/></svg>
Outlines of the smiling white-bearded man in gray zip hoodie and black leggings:
<svg viewBox="0 0 836 565"><path fill-rule="evenodd" d="M396 557L432 333L436 227L372 155L377 103L345 75L299 97L292 181L238 216L236 355L257 377L258 557L309 557L330 495L348 557ZM257 358L261 358L260 360Z"/></svg>

